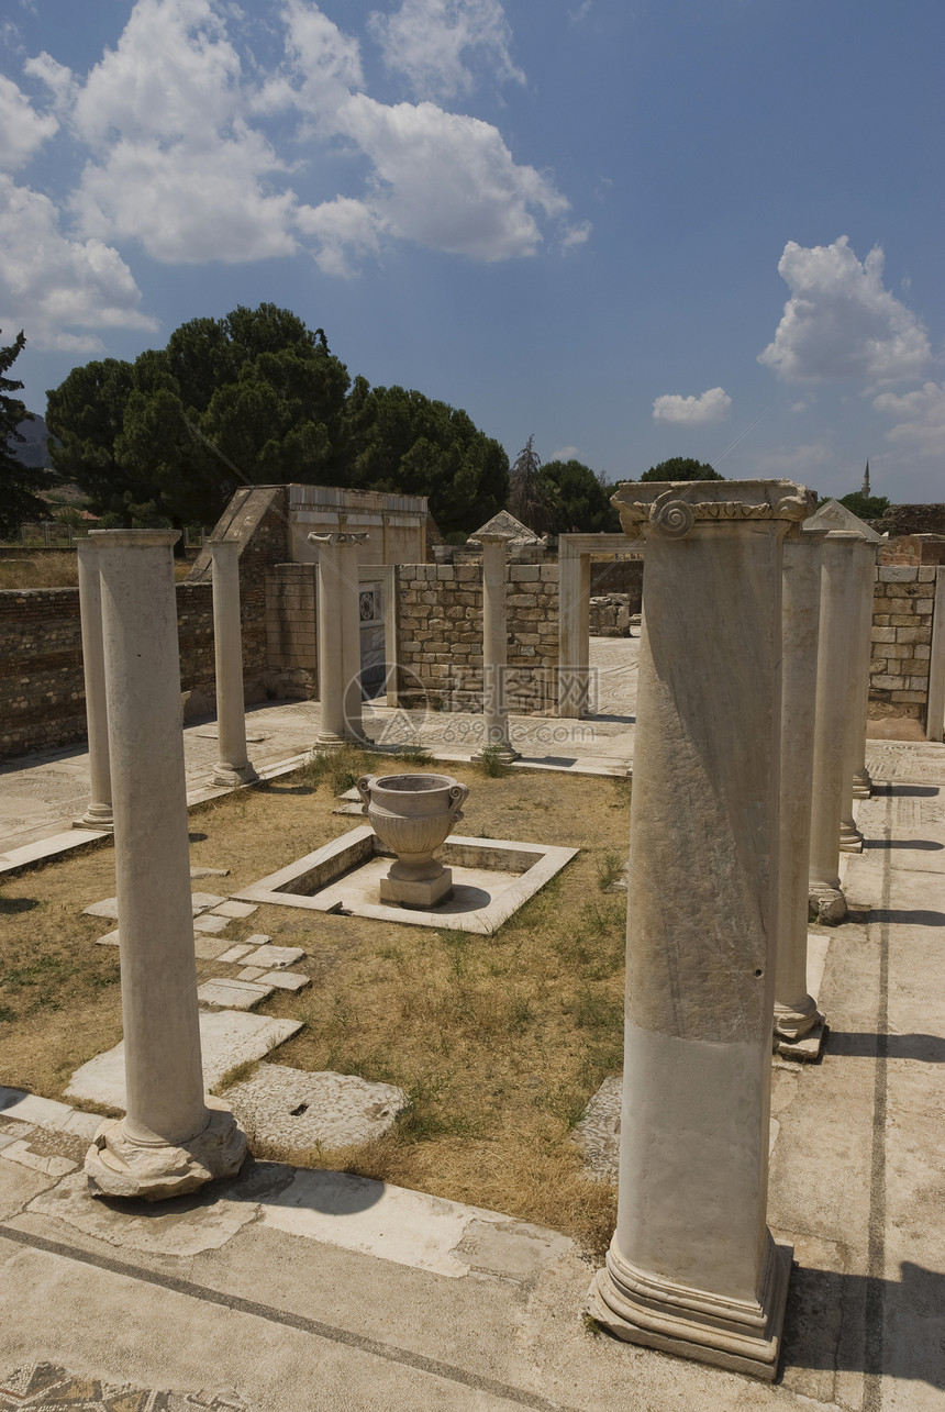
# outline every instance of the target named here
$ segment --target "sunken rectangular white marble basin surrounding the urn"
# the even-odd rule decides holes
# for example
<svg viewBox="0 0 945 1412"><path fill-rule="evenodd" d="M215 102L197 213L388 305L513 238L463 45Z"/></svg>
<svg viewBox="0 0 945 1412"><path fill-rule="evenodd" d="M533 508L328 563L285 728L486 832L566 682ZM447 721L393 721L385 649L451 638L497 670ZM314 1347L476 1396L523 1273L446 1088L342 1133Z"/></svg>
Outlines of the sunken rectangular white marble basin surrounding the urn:
<svg viewBox="0 0 945 1412"><path fill-rule="evenodd" d="M451 834L436 856L452 868L452 895L421 911L380 901L380 880L394 854L384 849L370 825L360 825L233 897L489 935L576 853L578 849L552 849L541 843Z"/></svg>

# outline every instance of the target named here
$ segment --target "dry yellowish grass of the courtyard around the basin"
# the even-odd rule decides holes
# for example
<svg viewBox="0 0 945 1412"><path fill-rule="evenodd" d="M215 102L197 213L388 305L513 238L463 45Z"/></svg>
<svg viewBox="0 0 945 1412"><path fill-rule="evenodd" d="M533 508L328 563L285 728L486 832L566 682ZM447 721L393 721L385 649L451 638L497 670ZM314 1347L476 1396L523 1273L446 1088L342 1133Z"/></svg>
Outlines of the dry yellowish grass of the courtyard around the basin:
<svg viewBox="0 0 945 1412"><path fill-rule="evenodd" d="M229 868L195 890L233 892L338 837L335 791L390 758L316 761L191 810L191 860ZM427 768L436 768L435 765ZM571 1128L622 1065L626 781L514 771L469 784L459 832L581 849L492 936L260 907L227 938L301 946L312 984L258 1010L304 1021L270 1062L401 1084L411 1107L357 1148L257 1156L328 1166L554 1226L600 1251L614 1193L589 1179ZM0 891L0 1083L61 1097L72 1072L121 1036L114 926L82 908L114 892L110 846L8 878ZM198 960L201 980L226 973Z"/></svg>

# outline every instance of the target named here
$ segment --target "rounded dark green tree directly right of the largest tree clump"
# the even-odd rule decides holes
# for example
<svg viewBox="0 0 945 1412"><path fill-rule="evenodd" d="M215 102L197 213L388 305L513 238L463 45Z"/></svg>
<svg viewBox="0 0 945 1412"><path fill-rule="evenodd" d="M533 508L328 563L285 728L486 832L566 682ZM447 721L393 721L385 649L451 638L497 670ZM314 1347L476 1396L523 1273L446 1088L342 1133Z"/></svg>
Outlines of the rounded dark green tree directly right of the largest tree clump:
<svg viewBox="0 0 945 1412"><path fill-rule="evenodd" d="M355 378L347 398L343 484L427 496L444 534L479 528L501 510L509 457L472 418L404 387Z"/></svg>

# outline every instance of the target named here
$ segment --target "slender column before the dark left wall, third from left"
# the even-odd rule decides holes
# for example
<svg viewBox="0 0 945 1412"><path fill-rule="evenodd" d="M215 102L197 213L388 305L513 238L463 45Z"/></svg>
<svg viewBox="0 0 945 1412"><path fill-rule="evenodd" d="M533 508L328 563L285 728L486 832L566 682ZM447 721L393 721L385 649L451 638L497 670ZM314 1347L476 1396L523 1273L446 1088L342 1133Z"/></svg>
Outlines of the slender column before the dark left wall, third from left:
<svg viewBox="0 0 945 1412"><path fill-rule="evenodd" d="M246 750L243 700L243 633L240 628L240 546L236 539L209 539L213 572L213 655L216 662L218 761L215 785L247 785L258 779Z"/></svg>

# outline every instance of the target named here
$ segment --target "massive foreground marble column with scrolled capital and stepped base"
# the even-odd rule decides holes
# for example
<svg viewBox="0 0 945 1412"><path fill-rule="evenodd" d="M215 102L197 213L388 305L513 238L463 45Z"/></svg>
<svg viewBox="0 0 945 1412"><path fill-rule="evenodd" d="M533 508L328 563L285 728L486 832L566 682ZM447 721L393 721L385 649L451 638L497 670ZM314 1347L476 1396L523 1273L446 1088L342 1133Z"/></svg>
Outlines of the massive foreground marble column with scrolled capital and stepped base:
<svg viewBox="0 0 945 1412"><path fill-rule="evenodd" d="M766 1226L791 481L624 484L646 537L617 1230L589 1312L774 1378L791 1268Z"/></svg>

